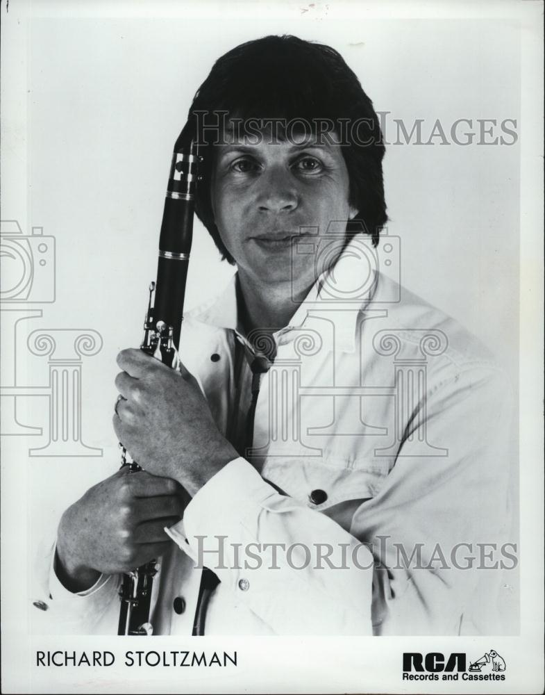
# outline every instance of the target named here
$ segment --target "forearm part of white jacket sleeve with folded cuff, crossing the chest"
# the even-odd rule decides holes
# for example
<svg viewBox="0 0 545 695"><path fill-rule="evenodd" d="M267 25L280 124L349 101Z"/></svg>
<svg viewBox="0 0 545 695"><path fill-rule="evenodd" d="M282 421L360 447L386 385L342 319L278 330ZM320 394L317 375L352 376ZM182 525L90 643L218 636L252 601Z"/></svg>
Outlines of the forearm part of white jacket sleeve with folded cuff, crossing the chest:
<svg viewBox="0 0 545 695"><path fill-rule="evenodd" d="M212 477L167 532L272 632L371 635L369 548L278 493L245 459ZM327 559L324 548L333 548Z"/></svg>

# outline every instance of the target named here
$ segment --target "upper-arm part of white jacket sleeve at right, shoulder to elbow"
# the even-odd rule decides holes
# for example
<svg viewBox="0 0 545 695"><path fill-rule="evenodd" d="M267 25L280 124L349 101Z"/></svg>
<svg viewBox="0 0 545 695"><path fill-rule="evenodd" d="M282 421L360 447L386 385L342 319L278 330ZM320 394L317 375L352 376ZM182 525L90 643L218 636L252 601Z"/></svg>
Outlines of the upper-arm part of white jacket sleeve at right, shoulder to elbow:
<svg viewBox="0 0 545 695"><path fill-rule="evenodd" d="M505 630L498 594L517 565L513 402L501 370L476 363L437 384L408 418L393 468L351 526L376 559L376 633Z"/></svg>

